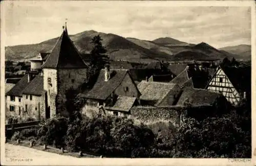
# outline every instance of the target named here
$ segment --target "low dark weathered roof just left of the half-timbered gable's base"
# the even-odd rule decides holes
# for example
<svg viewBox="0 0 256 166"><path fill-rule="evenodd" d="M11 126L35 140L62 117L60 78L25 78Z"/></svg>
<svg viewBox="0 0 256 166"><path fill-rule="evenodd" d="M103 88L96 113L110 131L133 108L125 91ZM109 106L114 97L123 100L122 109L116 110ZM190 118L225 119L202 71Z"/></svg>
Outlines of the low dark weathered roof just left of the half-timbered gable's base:
<svg viewBox="0 0 256 166"><path fill-rule="evenodd" d="M184 105L187 101L189 101L192 106L212 105L215 103L216 99L221 96L220 93L205 89L184 87L182 90L177 105Z"/></svg>

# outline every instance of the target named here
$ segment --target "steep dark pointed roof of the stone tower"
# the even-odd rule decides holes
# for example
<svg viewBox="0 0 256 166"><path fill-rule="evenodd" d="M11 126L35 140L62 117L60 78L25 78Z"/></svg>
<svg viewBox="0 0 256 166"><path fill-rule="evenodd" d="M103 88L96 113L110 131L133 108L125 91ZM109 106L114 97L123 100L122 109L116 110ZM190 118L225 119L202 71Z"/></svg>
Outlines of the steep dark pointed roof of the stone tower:
<svg viewBox="0 0 256 166"><path fill-rule="evenodd" d="M42 68L87 68L80 53L70 39L67 27L54 45L52 53L47 58Z"/></svg>

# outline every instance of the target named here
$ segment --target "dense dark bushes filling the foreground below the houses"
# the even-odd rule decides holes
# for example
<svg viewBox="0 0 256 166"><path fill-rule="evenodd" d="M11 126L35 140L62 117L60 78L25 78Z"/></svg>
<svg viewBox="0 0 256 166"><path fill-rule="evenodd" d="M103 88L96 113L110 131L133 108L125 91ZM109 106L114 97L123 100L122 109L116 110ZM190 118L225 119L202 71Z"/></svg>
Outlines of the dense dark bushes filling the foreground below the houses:
<svg viewBox="0 0 256 166"><path fill-rule="evenodd" d="M73 118L56 116L42 123L38 132L16 132L12 139L37 137L44 144L69 151L112 157L250 158L251 115L246 109L249 107L242 104L227 114L202 121L183 114L179 128L174 130L168 124L162 128L165 131L155 134L143 124L135 125L130 118L88 118L73 111Z"/></svg>

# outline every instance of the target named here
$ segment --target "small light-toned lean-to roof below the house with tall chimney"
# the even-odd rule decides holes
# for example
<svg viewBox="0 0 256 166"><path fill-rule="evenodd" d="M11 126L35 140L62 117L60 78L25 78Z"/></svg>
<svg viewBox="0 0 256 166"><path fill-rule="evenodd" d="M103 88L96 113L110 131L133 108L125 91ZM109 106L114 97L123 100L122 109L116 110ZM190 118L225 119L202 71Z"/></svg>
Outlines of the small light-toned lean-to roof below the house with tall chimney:
<svg viewBox="0 0 256 166"><path fill-rule="evenodd" d="M135 100L135 97L119 96L113 107L105 108L110 110L129 112L134 105Z"/></svg>

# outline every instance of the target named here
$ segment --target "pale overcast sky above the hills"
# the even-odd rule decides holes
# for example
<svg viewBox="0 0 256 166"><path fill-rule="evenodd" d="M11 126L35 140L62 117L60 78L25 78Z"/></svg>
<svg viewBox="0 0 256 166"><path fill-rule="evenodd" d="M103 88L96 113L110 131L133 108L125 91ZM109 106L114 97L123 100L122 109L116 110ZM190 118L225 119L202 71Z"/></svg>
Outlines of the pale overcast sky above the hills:
<svg viewBox="0 0 256 166"><path fill-rule="evenodd" d="M251 44L250 7L177 7L172 2L12 1L4 7L5 45L38 43L95 30L154 40L172 37L216 48Z"/></svg>

